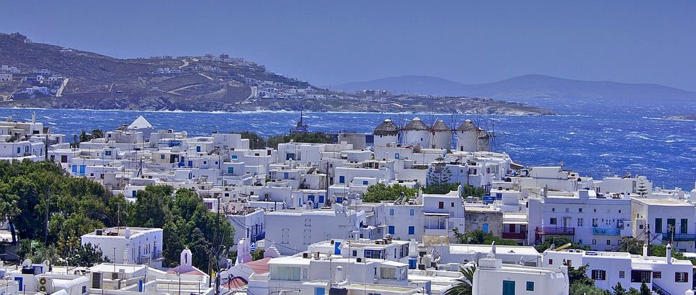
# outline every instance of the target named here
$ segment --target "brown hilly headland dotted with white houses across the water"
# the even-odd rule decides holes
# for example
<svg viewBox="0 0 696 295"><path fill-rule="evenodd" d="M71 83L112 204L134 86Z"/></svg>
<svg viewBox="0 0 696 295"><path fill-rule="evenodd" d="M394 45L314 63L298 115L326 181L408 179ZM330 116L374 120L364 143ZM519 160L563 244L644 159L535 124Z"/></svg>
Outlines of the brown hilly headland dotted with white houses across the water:
<svg viewBox="0 0 696 295"><path fill-rule="evenodd" d="M465 95L326 90L227 54L113 58L0 33L0 107L549 115Z"/></svg>

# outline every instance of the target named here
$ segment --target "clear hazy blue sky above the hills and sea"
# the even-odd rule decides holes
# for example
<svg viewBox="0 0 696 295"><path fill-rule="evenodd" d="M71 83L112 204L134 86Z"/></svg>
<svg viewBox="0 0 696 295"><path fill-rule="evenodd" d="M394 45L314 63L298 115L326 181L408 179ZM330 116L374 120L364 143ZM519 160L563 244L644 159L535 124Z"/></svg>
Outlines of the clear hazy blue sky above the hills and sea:
<svg viewBox="0 0 696 295"><path fill-rule="evenodd" d="M227 53L320 86L548 74L696 90L696 1L2 1L0 13L1 32L35 42Z"/></svg>

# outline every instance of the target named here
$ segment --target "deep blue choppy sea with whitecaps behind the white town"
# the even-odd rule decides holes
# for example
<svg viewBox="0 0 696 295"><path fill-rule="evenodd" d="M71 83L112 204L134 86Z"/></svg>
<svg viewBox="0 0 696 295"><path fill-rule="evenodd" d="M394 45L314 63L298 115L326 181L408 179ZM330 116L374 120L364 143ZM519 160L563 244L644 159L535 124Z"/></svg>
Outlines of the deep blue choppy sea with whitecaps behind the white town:
<svg viewBox="0 0 696 295"><path fill-rule="evenodd" d="M426 122L441 118L448 125L465 119L495 129L496 151L507 152L525 166L564 164L581 175L647 175L656 186L686 191L696 181L696 121L665 120L665 115L696 113L696 102L576 101L533 102L557 112L549 116L418 114ZM264 136L287 133L299 119L295 112L202 113L152 111L90 111L66 109L0 109L0 120L37 120L54 133L78 134L82 129L115 129L139 115L158 129L185 130L191 135L212 131L255 131ZM370 132L385 119L404 122L412 113L305 113L311 131L342 129ZM70 140L70 139L68 139Z"/></svg>

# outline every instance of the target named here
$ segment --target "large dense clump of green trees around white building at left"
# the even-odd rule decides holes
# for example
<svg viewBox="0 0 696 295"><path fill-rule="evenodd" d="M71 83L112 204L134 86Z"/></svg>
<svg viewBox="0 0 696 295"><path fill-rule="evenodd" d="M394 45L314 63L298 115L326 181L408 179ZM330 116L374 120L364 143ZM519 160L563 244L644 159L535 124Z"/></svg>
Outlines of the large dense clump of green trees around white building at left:
<svg viewBox="0 0 696 295"><path fill-rule="evenodd" d="M207 269L211 257L217 263L234 244L232 225L221 218L216 232L216 214L195 191L147 186L132 204L98 182L70 177L52 161L0 161L0 209L0 218L22 241L18 255L36 260L58 262L62 255L90 263L96 254L80 244L80 237L116 225L163 228L164 245L158 250L170 265L189 247L198 255L194 265Z"/></svg>

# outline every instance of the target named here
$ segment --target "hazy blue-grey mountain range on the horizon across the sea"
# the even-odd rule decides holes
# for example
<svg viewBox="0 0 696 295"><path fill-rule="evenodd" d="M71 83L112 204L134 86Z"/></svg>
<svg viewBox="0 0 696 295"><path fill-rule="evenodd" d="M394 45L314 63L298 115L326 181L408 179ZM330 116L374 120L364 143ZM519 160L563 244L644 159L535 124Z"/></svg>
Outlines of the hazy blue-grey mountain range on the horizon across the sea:
<svg viewBox="0 0 696 295"><path fill-rule="evenodd" d="M526 74L503 81L482 84L464 84L438 77L409 75L344 83L332 87L332 90L347 92L365 89L392 90L395 93L466 95L493 99L696 99L696 93L658 84L580 81L541 74Z"/></svg>

